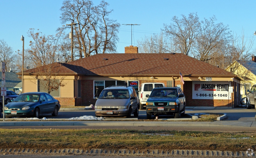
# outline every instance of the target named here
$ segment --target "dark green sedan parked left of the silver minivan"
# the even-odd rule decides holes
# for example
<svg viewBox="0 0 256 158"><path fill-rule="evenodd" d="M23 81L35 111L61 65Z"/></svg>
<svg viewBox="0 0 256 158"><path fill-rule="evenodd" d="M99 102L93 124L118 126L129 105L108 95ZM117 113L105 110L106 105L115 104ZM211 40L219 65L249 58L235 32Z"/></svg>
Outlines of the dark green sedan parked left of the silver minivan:
<svg viewBox="0 0 256 158"><path fill-rule="evenodd" d="M5 105L6 118L33 116L42 114L57 116L60 109L59 101L44 92L29 92L18 95L11 103Z"/></svg>

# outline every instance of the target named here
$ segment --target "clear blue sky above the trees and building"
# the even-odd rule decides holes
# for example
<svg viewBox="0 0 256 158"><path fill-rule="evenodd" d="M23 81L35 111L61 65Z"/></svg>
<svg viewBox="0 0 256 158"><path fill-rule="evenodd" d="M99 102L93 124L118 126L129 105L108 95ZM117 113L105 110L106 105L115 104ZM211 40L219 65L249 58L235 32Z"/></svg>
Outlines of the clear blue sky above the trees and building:
<svg viewBox="0 0 256 158"><path fill-rule="evenodd" d="M101 0L93 0L98 5ZM29 47L27 36L29 28L39 29L43 34L55 34L60 23L62 0L0 0L0 39L13 48L22 50L21 35L25 37L24 47ZM256 30L255 1L174 1L174 0L106 0L108 9L113 9L111 18L121 24L117 52L124 53L124 47L131 45L131 26L122 24L140 24L133 27L133 46L137 40L152 33L160 33L163 24L169 24L173 16L188 16L197 12L200 20L216 16L218 22L229 25L235 35L253 37ZM256 37L256 36L255 36ZM255 38L254 37L254 38ZM252 48L255 50L256 44Z"/></svg>

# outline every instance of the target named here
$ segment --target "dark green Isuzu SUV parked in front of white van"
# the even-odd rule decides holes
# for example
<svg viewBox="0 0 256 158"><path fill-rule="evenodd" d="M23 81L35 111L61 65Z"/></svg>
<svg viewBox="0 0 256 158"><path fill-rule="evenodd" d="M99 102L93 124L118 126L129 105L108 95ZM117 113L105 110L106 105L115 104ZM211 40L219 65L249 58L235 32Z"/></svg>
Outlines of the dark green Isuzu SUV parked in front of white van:
<svg viewBox="0 0 256 158"><path fill-rule="evenodd" d="M185 115L186 99L179 87L154 88L146 102L147 119L151 115L174 115L179 118Z"/></svg>

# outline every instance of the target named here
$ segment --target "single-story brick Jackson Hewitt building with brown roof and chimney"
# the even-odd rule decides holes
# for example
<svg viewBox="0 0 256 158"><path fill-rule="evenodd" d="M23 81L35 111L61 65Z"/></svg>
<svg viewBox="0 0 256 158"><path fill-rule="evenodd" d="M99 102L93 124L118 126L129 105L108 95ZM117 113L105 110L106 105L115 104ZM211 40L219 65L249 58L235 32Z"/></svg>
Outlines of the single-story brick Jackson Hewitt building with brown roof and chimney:
<svg viewBox="0 0 256 158"><path fill-rule="evenodd" d="M96 54L69 63L53 64L59 78L65 77L65 86L50 93L61 105L95 104L95 97L110 85L129 85L138 92L140 84L146 82L181 87L186 106L240 104L240 78L182 53L138 53L138 47L129 46L125 47L125 53ZM23 92L43 91L38 69L24 71ZM17 74L21 78L21 72ZM229 93L229 87L232 87L232 93Z"/></svg>

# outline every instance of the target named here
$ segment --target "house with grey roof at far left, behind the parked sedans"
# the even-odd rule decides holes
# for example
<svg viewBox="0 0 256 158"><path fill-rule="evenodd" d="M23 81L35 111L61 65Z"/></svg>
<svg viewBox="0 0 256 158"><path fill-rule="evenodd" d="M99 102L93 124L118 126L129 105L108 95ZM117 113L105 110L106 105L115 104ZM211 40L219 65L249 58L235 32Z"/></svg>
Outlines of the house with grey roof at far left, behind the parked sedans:
<svg viewBox="0 0 256 158"><path fill-rule="evenodd" d="M1 73L1 80L2 82L2 73ZM21 79L19 79L19 75L10 71L5 72L5 87L7 91L14 91L15 93L19 93L22 88L15 87L18 83L21 83Z"/></svg>

